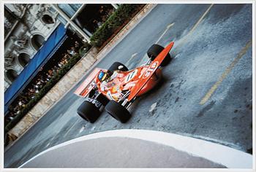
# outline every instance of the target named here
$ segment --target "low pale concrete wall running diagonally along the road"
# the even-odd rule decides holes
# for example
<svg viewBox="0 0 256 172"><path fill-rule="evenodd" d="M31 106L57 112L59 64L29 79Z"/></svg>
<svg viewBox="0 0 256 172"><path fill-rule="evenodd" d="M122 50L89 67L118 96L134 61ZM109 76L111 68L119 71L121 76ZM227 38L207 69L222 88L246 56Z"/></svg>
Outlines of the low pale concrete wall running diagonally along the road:
<svg viewBox="0 0 256 172"><path fill-rule="evenodd" d="M40 117L42 117L59 99L67 93L76 82L91 68L91 66L99 59L103 58L113 47L124 39L124 36L132 30L156 6L156 4L147 4L137 15L125 26L100 52L96 48L91 48L70 71L61 78L61 80L23 117L12 130L8 132L10 136L19 138L32 125L34 125Z"/></svg>

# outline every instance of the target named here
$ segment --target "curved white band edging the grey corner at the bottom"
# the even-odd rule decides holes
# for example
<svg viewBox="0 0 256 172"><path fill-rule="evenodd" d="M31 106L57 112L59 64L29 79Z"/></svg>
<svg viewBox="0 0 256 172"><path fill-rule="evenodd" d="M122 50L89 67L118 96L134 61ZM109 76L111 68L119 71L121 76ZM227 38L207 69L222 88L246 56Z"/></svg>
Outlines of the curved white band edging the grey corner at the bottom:
<svg viewBox="0 0 256 172"><path fill-rule="evenodd" d="M227 168L252 168L252 155L246 152L239 151L237 149L223 146L221 144L215 144L210 141L204 141L197 138L181 136L173 133L165 133L162 131L154 130L135 130L135 129L122 129L122 130L108 130L100 133L93 133L80 138L75 138L70 141L66 141L62 144L56 145L40 152L35 157L32 157L26 163L31 160L50 152L60 147L74 144L79 141L86 141L97 138L109 138L109 137L121 137L121 138L137 138L144 141L152 141L158 144L164 144L166 146L172 146L182 152L187 152L197 157L203 157L206 160L211 160L214 163L225 165ZM23 163L23 165L26 165ZM22 168L20 165L19 168Z"/></svg>

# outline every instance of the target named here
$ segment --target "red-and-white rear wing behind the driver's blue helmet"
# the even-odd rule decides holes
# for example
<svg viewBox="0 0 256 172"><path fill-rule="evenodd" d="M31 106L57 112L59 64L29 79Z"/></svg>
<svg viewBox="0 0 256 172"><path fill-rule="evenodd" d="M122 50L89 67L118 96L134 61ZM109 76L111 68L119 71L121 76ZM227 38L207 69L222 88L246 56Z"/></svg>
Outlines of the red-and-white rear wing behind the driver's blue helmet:
<svg viewBox="0 0 256 172"><path fill-rule="evenodd" d="M81 97L86 97L90 91L94 88L94 85L92 85L92 82L94 79L96 79L97 74L99 73L99 68L95 68L94 71L91 71L91 74L89 74L88 77L83 81L83 83L75 90L75 94ZM104 71L104 70L103 70Z"/></svg>

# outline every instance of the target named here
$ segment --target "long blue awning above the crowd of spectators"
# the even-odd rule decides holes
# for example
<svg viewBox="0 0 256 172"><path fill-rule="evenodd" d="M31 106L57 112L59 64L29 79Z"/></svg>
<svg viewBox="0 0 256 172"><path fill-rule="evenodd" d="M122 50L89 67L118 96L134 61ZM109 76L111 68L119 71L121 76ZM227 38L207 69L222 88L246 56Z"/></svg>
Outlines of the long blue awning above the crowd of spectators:
<svg viewBox="0 0 256 172"><path fill-rule="evenodd" d="M66 28L60 24L55 31L49 36L45 44L37 51L28 65L21 71L18 77L12 82L4 93L4 113L7 112L8 106L18 96L31 79L35 77L39 69L54 55L64 40L67 39Z"/></svg>

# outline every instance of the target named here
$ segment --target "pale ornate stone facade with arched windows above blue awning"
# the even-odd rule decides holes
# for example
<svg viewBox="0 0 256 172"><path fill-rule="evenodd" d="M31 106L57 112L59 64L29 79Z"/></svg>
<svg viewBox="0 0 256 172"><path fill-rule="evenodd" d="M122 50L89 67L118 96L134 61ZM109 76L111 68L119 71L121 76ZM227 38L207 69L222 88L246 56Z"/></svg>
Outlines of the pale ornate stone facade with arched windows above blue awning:
<svg viewBox="0 0 256 172"><path fill-rule="evenodd" d="M56 17L49 4L4 5L4 90L59 25Z"/></svg>

